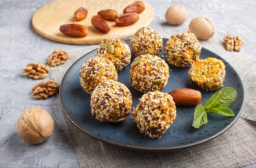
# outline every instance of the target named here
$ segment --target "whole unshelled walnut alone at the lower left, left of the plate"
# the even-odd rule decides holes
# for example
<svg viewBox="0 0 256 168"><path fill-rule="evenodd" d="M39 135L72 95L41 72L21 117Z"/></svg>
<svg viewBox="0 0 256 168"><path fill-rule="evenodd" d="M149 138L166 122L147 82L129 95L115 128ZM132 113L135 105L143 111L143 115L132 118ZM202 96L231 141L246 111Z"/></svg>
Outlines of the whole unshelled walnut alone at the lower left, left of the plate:
<svg viewBox="0 0 256 168"><path fill-rule="evenodd" d="M52 117L42 108L27 109L17 121L20 137L31 144L44 142L52 135L52 130Z"/></svg>

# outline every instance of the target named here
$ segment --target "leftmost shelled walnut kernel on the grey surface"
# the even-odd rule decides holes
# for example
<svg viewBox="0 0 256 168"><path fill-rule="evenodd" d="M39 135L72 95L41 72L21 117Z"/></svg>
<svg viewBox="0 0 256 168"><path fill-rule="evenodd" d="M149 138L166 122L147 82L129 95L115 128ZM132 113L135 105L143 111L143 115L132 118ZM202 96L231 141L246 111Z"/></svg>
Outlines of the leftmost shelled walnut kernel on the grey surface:
<svg viewBox="0 0 256 168"><path fill-rule="evenodd" d="M40 63L35 64L35 62L30 62L23 69L23 75L32 77L35 80L44 79L48 76L47 73L49 73L49 71L50 69L47 65Z"/></svg>

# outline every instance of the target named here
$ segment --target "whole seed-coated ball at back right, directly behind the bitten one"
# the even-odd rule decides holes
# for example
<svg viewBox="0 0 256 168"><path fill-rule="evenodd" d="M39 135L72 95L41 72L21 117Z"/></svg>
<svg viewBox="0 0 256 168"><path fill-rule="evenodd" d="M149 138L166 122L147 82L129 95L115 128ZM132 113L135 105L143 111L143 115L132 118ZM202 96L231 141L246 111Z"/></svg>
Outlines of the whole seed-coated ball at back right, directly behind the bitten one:
<svg viewBox="0 0 256 168"><path fill-rule="evenodd" d="M199 59L201 48L195 34L186 31L172 35L166 42L164 52L170 64L186 67Z"/></svg>

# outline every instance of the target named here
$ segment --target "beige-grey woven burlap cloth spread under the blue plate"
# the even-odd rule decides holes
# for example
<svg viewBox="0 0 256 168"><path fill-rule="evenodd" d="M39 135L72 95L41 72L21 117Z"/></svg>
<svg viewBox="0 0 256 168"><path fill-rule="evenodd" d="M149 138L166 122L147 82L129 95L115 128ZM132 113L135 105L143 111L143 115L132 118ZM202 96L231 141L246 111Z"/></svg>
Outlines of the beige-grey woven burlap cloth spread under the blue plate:
<svg viewBox="0 0 256 168"><path fill-rule="evenodd" d="M182 32L177 31L177 32ZM172 32L174 34L177 32ZM170 34L162 34L170 37ZM201 42L205 48L227 60L243 80L246 102L241 117L224 134L196 147L170 152L144 152L118 148L94 140L74 126L63 114L81 167L241 167L256 162L256 60L243 52L230 52L219 42ZM245 44L246 45L246 44ZM67 69L91 51L70 53L64 65L52 67L50 78L61 83Z"/></svg>

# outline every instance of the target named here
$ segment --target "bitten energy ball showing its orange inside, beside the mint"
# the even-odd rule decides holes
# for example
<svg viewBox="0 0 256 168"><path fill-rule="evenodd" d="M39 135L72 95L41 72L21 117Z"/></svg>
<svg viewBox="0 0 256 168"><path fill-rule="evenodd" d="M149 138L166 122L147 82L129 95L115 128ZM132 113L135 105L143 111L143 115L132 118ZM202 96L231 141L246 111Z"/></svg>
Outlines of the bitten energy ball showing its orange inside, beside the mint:
<svg viewBox="0 0 256 168"><path fill-rule="evenodd" d="M202 89L214 91L223 88L226 68L221 60L207 58L193 63L189 70L190 78Z"/></svg>

